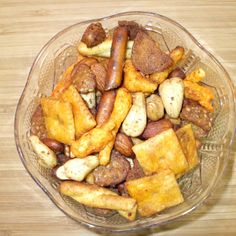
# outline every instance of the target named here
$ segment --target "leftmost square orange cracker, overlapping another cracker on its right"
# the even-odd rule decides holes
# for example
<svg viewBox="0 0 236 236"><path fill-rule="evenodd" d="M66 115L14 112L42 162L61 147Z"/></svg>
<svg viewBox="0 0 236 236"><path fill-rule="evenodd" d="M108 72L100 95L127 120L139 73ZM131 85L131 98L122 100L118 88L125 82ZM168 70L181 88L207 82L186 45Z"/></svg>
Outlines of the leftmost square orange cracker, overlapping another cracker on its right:
<svg viewBox="0 0 236 236"><path fill-rule="evenodd" d="M41 105L49 138L70 145L75 139L71 104L52 98L42 98Z"/></svg>

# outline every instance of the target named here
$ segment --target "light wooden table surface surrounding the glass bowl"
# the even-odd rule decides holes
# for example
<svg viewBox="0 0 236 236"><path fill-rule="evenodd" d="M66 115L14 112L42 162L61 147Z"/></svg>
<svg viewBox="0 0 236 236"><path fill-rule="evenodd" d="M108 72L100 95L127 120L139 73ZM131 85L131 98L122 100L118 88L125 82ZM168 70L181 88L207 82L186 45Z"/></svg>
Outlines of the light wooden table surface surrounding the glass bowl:
<svg viewBox="0 0 236 236"><path fill-rule="evenodd" d="M95 235L65 216L24 169L14 142L14 113L31 64L58 31L130 10L153 11L185 26L236 83L236 2L0 0L0 235ZM232 155L233 157L233 155ZM235 155L234 155L235 157ZM236 235L236 165L194 213L153 235Z"/></svg>

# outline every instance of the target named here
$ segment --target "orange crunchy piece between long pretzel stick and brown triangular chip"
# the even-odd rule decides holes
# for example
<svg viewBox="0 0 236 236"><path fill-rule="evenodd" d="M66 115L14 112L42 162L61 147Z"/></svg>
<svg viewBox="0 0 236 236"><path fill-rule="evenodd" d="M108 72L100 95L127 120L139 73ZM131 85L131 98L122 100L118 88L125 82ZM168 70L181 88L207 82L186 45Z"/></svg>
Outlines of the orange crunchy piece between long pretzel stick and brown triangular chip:
<svg viewBox="0 0 236 236"><path fill-rule="evenodd" d="M123 87L132 93L153 93L157 89L158 84L136 71L131 60L126 60L124 73Z"/></svg>

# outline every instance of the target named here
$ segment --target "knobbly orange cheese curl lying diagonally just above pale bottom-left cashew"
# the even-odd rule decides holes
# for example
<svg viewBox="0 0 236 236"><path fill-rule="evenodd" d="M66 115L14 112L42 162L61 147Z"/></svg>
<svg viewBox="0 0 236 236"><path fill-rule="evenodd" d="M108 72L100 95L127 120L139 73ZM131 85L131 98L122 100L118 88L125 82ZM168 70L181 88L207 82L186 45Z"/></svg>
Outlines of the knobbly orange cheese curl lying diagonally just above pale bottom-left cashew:
<svg viewBox="0 0 236 236"><path fill-rule="evenodd" d="M83 134L78 140L72 142L72 154L76 157L83 158L92 153L100 152L114 139L112 134L114 128L115 123L109 122Z"/></svg>

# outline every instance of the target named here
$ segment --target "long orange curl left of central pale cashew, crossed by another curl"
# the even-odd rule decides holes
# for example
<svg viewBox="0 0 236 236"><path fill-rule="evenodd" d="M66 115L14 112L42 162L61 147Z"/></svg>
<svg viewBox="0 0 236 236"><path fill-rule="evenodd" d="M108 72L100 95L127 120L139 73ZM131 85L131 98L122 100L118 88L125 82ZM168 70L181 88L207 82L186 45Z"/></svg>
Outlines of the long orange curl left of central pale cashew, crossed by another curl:
<svg viewBox="0 0 236 236"><path fill-rule="evenodd" d="M130 107L132 105L132 96L125 88L119 88L117 90L116 100L114 104L113 111L108 120L109 122L115 123L115 129L112 130L113 139L108 143L108 145L101 150L99 153L100 165L107 165L110 160L111 150L113 148L116 134L120 128L121 123L127 116Z"/></svg>

